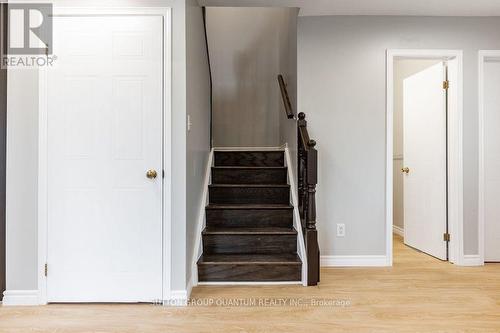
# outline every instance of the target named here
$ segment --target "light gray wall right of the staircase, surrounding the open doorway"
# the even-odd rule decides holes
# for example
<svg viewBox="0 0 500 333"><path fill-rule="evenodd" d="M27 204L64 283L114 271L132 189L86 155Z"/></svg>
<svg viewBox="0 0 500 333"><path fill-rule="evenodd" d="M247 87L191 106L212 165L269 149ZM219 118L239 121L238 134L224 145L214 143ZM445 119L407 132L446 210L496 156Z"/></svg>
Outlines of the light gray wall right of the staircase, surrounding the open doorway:
<svg viewBox="0 0 500 333"><path fill-rule="evenodd" d="M396 48L464 50L464 247L477 254L477 51L500 48L500 18L299 17L298 30L299 110L320 154L322 254L385 253L385 61Z"/></svg>

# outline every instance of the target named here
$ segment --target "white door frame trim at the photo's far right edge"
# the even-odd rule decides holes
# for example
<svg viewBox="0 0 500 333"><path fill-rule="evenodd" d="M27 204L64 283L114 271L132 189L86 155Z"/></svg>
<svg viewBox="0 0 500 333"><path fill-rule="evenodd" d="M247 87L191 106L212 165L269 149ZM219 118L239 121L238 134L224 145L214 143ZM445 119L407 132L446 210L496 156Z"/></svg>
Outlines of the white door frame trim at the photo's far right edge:
<svg viewBox="0 0 500 333"><path fill-rule="evenodd" d="M500 59L500 50L478 52L478 113L479 113L479 170L478 170L478 247L479 262L484 264L484 63L488 58Z"/></svg>

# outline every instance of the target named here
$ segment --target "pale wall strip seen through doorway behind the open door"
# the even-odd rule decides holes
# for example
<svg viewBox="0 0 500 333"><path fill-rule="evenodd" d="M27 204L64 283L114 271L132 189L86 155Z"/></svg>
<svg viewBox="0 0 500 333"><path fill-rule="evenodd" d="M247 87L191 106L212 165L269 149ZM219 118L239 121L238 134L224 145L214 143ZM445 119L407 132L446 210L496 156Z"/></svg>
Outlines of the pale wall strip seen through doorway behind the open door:
<svg viewBox="0 0 500 333"><path fill-rule="evenodd" d="M394 61L393 224L404 229L403 219L403 81L442 60L397 59Z"/></svg>

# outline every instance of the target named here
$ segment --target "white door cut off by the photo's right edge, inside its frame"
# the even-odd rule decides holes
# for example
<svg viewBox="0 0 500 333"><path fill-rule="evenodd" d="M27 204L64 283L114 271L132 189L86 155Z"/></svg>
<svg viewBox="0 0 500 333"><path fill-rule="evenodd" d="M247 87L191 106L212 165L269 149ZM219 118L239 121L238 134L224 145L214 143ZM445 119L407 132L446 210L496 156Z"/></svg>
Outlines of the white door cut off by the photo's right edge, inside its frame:
<svg viewBox="0 0 500 333"><path fill-rule="evenodd" d="M484 63L484 260L500 262L500 60Z"/></svg>

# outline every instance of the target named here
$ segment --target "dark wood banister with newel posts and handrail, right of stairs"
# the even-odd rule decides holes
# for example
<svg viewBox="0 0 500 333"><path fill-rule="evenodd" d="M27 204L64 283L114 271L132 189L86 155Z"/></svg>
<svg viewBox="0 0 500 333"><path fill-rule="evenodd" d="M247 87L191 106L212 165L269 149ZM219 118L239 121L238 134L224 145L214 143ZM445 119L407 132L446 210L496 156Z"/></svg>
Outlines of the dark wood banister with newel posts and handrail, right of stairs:
<svg viewBox="0 0 500 333"><path fill-rule="evenodd" d="M289 119L294 118L292 104L282 75L278 75L281 96ZM291 116L290 116L291 115ZM304 234L307 256L307 284L315 286L319 282L319 244L316 230L316 185L318 184L318 151L316 141L311 140L307 130L305 113L297 119L297 173L299 213Z"/></svg>

